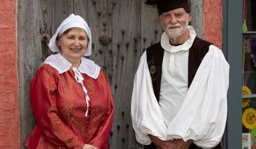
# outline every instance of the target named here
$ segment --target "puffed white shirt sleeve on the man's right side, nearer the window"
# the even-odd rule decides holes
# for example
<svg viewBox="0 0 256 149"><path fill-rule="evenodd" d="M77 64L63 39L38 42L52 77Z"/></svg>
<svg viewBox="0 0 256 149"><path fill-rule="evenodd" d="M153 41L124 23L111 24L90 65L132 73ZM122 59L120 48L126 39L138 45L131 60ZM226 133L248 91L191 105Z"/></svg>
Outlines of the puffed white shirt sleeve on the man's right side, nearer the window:
<svg viewBox="0 0 256 149"><path fill-rule="evenodd" d="M227 122L229 64L223 53L211 45L183 104L168 125L168 139L189 139L202 148L213 148L221 141Z"/></svg>

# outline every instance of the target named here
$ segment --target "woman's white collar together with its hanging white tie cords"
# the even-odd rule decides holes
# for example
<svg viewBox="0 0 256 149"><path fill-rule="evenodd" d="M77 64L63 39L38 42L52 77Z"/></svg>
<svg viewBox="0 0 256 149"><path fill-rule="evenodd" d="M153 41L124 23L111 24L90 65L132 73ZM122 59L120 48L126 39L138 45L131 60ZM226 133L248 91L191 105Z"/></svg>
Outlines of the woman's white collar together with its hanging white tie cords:
<svg viewBox="0 0 256 149"><path fill-rule="evenodd" d="M75 80L81 84L82 90L84 91L85 94L85 99L86 99L86 105L87 105L87 110L85 112L85 116L88 116L88 109L89 109L89 102L90 102L90 97L88 95L88 91L86 90L83 80L84 78L82 77L81 73L85 73L88 76L96 79L98 78L100 74L100 67L94 63L94 61L86 58L81 59L81 64L78 68L72 67L72 63L67 61L62 54L54 54L49 56L48 58L45 59L44 63L50 65L54 69L58 71L59 74L65 73L69 69L72 68L73 72L75 73Z"/></svg>

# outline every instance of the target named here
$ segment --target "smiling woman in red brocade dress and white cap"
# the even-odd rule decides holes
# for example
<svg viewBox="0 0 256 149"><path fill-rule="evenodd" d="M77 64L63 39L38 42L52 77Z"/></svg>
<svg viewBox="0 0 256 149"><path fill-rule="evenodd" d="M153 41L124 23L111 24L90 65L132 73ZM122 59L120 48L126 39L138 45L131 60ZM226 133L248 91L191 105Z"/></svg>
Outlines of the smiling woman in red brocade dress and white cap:
<svg viewBox="0 0 256 149"><path fill-rule="evenodd" d="M107 77L90 56L90 28L71 14L50 39L52 52L30 85L37 125L27 148L107 148L113 122L113 97Z"/></svg>

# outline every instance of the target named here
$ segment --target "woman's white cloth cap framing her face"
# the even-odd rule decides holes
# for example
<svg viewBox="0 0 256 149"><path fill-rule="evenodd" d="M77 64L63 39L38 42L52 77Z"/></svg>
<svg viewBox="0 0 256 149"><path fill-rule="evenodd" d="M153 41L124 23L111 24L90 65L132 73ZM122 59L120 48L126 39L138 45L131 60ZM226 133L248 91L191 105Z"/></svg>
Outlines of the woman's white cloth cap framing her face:
<svg viewBox="0 0 256 149"><path fill-rule="evenodd" d="M88 47L84 56L90 56L92 53L92 34L90 32L90 28L88 27L88 24L84 21L84 19L81 16L75 15L75 14L70 14L67 18L65 18L62 24L60 24L56 33L50 39L50 42L49 42L50 50L52 52L60 52L60 49L56 44L56 38L58 37L58 35L59 36L62 35L64 31L72 27L79 27L81 29L84 29L84 31L86 31L88 39L90 41L88 42Z"/></svg>

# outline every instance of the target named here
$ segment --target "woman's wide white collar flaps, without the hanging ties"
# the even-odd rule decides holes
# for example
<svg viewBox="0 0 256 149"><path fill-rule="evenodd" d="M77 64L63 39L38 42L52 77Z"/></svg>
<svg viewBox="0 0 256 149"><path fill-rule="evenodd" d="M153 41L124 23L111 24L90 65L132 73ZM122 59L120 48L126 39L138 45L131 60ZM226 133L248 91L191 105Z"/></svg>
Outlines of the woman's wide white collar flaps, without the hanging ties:
<svg viewBox="0 0 256 149"><path fill-rule="evenodd" d="M59 74L65 73L72 66L72 63L67 61L67 59L65 59L60 53L48 56L44 63L56 69ZM98 78L100 74L100 67L96 65L94 61L83 57L81 59L81 64L77 69L79 69L81 73L85 73L94 79Z"/></svg>

